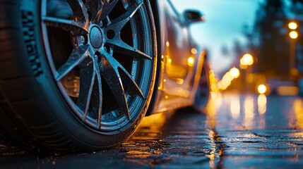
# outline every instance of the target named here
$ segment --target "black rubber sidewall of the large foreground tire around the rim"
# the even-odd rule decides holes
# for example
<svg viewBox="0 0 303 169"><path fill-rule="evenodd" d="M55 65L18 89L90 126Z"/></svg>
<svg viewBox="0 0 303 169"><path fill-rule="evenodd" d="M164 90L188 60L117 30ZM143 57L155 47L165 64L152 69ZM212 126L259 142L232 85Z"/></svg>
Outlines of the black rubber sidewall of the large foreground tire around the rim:
<svg viewBox="0 0 303 169"><path fill-rule="evenodd" d="M151 11L149 11L150 6L146 8L151 15ZM47 117L46 119L49 120L48 123L57 121L59 123L59 126L57 126L59 130L61 130L61 132L64 132L73 140L73 142L76 142L78 145L87 145L92 149L106 149L121 144L121 142L129 138L138 127L138 123L144 117L145 112L148 109L148 104L153 92L150 92L148 94L146 104L143 107L141 114L138 115L138 118L136 118L133 122L128 123L124 128L117 131L117 134L101 134L100 132L97 132L97 130L93 130L90 127L87 127L78 117L76 117L71 108L69 108L69 105L64 100L61 92L59 92L57 82L55 82L51 69L49 68L47 56L44 51L44 43L42 41L43 32L41 29L40 9L41 1L20 1L20 14L22 18L20 29L23 30L23 35L34 35L31 37L31 39L28 39L27 36L22 37L21 42L24 43L24 46L26 48L25 51L27 53L23 57L26 57L27 60L33 55L36 57L35 63L30 63L30 65L31 68L35 68L35 70L32 69L32 72L37 82L37 91L42 95L43 99L47 103L47 109L49 109L47 112L51 112L51 114L45 114ZM151 23L153 23L153 21ZM28 26L32 24L34 26ZM32 51L32 49L35 49L35 51ZM39 67L39 69L37 70L36 67ZM154 77L155 75L153 75L153 78ZM152 81L154 82L154 80ZM153 88L153 84L151 88Z"/></svg>

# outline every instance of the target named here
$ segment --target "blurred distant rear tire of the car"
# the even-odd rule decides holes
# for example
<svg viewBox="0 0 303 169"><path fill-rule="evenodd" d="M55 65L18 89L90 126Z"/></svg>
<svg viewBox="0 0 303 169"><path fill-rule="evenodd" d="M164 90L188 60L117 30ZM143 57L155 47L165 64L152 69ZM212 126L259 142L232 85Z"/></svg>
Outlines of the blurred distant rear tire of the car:
<svg viewBox="0 0 303 169"><path fill-rule="evenodd" d="M207 61L203 62L203 68L201 72L201 77L198 83L198 89L196 91L194 99L194 110L202 112L203 108L206 107L210 99L210 68Z"/></svg>

